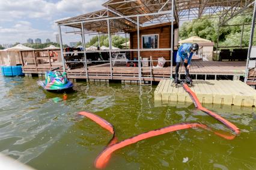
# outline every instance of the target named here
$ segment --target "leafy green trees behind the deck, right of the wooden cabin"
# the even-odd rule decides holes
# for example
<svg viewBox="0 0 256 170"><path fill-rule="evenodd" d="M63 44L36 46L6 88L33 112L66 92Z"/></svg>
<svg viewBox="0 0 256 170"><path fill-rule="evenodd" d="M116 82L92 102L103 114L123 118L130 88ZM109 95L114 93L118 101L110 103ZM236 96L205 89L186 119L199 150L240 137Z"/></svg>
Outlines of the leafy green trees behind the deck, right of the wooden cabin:
<svg viewBox="0 0 256 170"><path fill-rule="evenodd" d="M240 25L252 22L252 16L237 16L231 19L227 25ZM184 22L180 27L180 40L192 36L198 36L215 42L218 39L219 19L198 19ZM222 26L219 28L219 46L239 46L243 26ZM244 26L242 46L249 45L251 24ZM254 32L254 44L256 44L256 33Z"/></svg>

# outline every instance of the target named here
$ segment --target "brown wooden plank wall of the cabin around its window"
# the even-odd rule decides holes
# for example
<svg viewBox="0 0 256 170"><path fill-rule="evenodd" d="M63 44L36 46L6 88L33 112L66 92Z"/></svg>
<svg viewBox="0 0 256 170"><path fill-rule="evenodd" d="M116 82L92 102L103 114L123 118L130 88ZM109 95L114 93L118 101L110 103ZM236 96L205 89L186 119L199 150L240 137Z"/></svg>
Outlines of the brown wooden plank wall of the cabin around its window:
<svg viewBox="0 0 256 170"><path fill-rule="evenodd" d="M177 26L174 28L177 29ZM175 32L175 31L174 31ZM177 32L177 31L176 31ZM139 41L140 48L142 48L142 35L150 35L150 34L159 34L159 48L171 48L171 25L158 25L158 26L148 26L148 28L141 29L139 31ZM174 36L175 37L175 36ZM137 32L130 32L130 49L138 48L138 38ZM152 56L153 60L157 60L159 57L164 57L166 60L170 60L170 51L140 51L141 57ZM136 51L132 51L131 59L135 57L138 59L138 53ZM153 62L154 66L157 65L157 62ZM169 66L170 62L166 62L165 66Z"/></svg>

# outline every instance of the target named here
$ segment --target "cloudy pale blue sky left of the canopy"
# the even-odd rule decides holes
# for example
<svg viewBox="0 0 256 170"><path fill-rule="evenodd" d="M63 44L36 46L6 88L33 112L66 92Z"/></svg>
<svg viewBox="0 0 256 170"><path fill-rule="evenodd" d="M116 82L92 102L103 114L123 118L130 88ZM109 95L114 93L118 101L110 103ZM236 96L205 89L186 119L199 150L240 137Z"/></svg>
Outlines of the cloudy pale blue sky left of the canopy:
<svg viewBox="0 0 256 170"><path fill-rule="evenodd" d="M0 44L25 43L28 38L40 38L42 42L49 38L56 42L56 20L101 10L104 2L106 0L0 0ZM78 41L78 37L64 37L63 43L70 41Z"/></svg>

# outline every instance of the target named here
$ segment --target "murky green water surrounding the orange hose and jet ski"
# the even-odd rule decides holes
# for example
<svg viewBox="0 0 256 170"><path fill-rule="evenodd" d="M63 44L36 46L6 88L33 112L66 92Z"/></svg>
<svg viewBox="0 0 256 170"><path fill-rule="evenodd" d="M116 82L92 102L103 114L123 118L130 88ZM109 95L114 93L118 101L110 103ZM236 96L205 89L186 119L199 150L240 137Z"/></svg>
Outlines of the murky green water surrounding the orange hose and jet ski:
<svg viewBox="0 0 256 170"><path fill-rule="evenodd" d="M111 135L78 111L114 125L119 141L181 122L224 125L193 104L154 105L154 89L129 84L76 83L62 94L38 88L38 78L0 77L0 151L35 169L95 169L93 162ZM256 169L253 108L206 105L239 127L229 141L202 129L140 141L116 151L106 169Z"/></svg>

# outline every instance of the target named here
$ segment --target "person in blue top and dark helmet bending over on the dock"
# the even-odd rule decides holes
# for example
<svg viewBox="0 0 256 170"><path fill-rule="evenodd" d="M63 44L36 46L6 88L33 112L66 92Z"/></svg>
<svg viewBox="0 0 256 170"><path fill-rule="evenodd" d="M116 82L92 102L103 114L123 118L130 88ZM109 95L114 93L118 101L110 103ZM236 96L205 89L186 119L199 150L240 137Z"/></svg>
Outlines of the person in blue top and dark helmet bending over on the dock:
<svg viewBox="0 0 256 170"><path fill-rule="evenodd" d="M184 43L178 48L177 57L176 57L176 68L175 68L175 83L178 83L178 68L180 67L181 60L184 62L185 71L186 71L186 81L191 81L189 75L190 62L193 56L193 53L198 51L198 44ZM189 54L189 55L188 55ZM189 56L189 57L188 57Z"/></svg>

